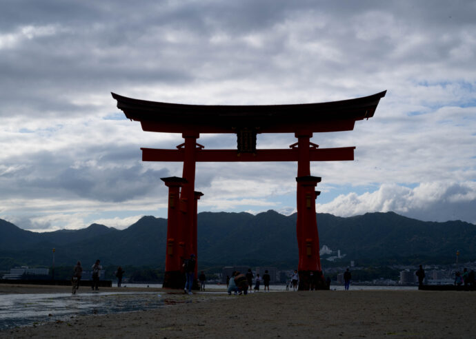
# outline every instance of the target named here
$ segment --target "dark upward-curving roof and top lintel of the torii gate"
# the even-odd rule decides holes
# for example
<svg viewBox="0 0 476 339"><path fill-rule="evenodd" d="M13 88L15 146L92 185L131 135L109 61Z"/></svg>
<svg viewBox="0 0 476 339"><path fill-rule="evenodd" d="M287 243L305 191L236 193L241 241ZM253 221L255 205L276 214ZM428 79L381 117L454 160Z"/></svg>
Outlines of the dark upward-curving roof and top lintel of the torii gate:
<svg viewBox="0 0 476 339"><path fill-rule="evenodd" d="M111 93L117 107L142 129L169 133L337 132L353 130L357 120L373 116L386 91L357 99L295 105L184 105L132 99Z"/></svg>

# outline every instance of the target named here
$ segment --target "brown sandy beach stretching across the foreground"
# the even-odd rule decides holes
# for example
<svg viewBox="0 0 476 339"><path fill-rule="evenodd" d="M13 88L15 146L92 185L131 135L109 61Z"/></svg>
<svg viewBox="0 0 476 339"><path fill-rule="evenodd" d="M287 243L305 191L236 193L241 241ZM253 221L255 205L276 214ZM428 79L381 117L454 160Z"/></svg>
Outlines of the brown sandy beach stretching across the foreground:
<svg viewBox="0 0 476 339"><path fill-rule="evenodd" d="M0 298L5 294L69 290L57 286L0 285ZM134 289L141 290L151 291ZM64 321L0 331L0 338L463 338L474 335L474 292L289 291L248 296L197 292L188 296L181 291L153 291L165 301L159 309L71 316Z"/></svg>

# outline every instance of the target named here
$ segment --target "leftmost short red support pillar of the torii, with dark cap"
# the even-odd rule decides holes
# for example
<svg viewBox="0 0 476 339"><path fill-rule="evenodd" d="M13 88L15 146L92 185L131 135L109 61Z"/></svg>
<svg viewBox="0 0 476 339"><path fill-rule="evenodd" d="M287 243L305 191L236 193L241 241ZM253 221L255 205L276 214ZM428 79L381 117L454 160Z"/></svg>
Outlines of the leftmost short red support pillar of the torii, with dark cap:
<svg viewBox="0 0 476 339"><path fill-rule="evenodd" d="M180 188L187 183L186 179L177 176L161 178L168 187L168 219L166 274L163 277L164 288L182 289L185 285L181 263L184 256L184 229L181 223Z"/></svg>

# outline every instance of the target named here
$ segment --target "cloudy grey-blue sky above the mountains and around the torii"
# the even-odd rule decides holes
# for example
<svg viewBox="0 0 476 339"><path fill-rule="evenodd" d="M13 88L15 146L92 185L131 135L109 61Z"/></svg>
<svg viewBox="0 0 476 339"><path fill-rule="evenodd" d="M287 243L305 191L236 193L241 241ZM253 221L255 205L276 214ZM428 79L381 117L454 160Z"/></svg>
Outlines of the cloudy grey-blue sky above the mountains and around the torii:
<svg viewBox="0 0 476 339"><path fill-rule="evenodd" d="M0 0L0 218L35 232L166 218L143 132L110 92L200 105L353 99L387 90L350 132L355 161L315 162L317 212L476 224L475 1ZM259 134L288 148L292 134ZM233 134L201 134L235 149ZM199 212L295 212L296 163L197 163ZM319 220L318 220L319 223ZM382 225L384 227L384 225Z"/></svg>

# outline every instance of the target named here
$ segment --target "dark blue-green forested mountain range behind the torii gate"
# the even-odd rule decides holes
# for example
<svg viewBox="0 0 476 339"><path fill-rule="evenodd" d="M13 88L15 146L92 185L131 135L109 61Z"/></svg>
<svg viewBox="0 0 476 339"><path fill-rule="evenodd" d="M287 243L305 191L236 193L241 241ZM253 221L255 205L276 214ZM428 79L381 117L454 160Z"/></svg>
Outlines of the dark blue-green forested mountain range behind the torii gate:
<svg viewBox="0 0 476 339"><path fill-rule="evenodd" d="M476 225L459 220L424 222L393 212L368 213L341 218L317 214L319 243L346 254L325 265L397 263L453 263L476 258ZM0 219L0 269L17 265L83 265L97 258L103 265L163 267L167 220L144 216L119 230L92 224L85 229L37 233ZM275 211L257 215L241 213L198 214L199 265L272 265L293 268L297 264L296 214Z"/></svg>

